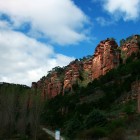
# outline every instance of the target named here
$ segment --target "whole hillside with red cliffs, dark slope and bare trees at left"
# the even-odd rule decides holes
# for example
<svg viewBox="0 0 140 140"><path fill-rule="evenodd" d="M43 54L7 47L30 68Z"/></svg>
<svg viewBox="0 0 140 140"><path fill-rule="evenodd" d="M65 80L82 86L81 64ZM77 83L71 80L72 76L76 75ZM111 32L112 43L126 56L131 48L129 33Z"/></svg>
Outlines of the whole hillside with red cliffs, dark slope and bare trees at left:
<svg viewBox="0 0 140 140"><path fill-rule="evenodd" d="M69 140L140 135L140 36L101 41L92 56L55 67L29 88L0 83L0 139L45 140L40 126Z"/></svg>

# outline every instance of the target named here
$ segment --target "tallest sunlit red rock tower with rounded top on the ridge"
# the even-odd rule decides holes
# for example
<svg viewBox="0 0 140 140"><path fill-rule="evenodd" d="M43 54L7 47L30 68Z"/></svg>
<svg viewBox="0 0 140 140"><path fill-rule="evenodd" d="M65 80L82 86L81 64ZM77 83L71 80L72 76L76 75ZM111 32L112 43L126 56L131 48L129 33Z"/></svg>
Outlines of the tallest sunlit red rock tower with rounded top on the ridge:
<svg viewBox="0 0 140 140"><path fill-rule="evenodd" d="M120 63L120 50L113 39L101 41L92 60L92 79L105 75Z"/></svg>

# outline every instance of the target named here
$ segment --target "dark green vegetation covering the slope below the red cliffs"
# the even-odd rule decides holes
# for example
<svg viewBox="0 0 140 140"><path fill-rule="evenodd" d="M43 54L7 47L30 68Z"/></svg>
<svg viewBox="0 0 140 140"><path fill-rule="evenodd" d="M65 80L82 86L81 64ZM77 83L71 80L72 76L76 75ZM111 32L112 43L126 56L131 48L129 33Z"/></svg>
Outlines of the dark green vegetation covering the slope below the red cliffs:
<svg viewBox="0 0 140 140"><path fill-rule="evenodd" d="M109 137L114 140L116 137L124 140L130 125L140 121L136 113L137 101L122 103L131 94L131 84L140 79L139 57L139 53L132 54L126 64L86 87L77 84L73 93L47 100L41 115L42 123L53 130L60 129L70 139Z"/></svg>

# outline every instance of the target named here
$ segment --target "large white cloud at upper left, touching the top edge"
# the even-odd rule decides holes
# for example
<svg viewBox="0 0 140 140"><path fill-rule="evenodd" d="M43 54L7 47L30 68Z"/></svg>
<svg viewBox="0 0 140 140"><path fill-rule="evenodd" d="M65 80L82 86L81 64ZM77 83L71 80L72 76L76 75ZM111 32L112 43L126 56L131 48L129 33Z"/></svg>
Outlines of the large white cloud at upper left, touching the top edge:
<svg viewBox="0 0 140 140"><path fill-rule="evenodd" d="M41 33L52 42L74 44L86 39L86 15L72 0L0 0L0 12L20 28L31 24L30 34Z"/></svg>

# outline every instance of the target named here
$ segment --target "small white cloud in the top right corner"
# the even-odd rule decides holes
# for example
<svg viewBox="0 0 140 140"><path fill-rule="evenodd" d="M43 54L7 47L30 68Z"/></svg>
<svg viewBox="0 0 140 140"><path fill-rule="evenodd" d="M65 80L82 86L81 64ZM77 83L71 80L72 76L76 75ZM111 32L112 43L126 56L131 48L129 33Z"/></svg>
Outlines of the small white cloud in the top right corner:
<svg viewBox="0 0 140 140"><path fill-rule="evenodd" d="M137 20L140 17L140 0L102 0L104 9L124 21Z"/></svg>

